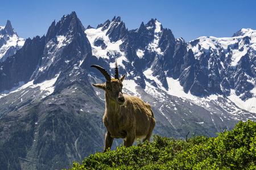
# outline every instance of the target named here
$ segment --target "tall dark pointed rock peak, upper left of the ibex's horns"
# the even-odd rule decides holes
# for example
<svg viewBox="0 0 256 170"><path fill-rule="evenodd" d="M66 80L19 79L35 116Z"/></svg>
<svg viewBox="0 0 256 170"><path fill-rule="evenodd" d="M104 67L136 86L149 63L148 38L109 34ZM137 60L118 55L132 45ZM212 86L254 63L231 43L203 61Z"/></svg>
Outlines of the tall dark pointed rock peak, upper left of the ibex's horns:
<svg viewBox="0 0 256 170"><path fill-rule="evenodd" d="M64 15L56 23L52 22L46 35L46 46L42 54L39 69L32 75L34 83L55 78L55 76L71 65L80 65L87 54L91 52L85 28L77 18L76 12Z"/></svg>

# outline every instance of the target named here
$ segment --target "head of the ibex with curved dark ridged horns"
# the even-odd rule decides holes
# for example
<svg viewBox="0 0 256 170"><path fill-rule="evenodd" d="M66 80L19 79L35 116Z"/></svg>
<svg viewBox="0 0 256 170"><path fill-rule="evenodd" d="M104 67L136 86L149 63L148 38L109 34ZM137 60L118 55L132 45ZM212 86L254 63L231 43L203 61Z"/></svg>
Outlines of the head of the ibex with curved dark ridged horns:
<svg viewBox="0 0 256 170"><path fill-rule="evenodd" d="M105 76L106 82L104 84L92 84L94 87L101 88L105 90L106 99L109 99L110 102L114 102L119 105L123 105L125 103L125 97L123 97L122 87L123 80L125 79L125 74L119 78L117 61L115 61L115 78L111 78L108 71L106 71L101 66L92 65L91 67L95 67L100 70L101 73Z"/></svg>

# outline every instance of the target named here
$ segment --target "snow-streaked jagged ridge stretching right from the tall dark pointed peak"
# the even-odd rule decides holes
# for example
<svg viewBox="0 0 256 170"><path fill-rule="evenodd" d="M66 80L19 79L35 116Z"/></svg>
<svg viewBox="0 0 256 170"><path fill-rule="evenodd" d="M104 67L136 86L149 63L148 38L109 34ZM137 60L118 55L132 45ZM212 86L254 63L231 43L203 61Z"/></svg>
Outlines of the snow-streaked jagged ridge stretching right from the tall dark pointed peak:
<svg viewBox="0 0 256 170"><path fill-rule="evenodd" d="M110 30L118 30L112 34L122 32L122 36L111 41ZM152 87L188 100L221 96L240 108L236 111L256 113L255 33L251 29L241 29L235 34L238 37L200 37L187 43L175 39L158 20L127 32L120 18L114 18L85 33L93 56L105 61L102 65L110 70L117 59L127 74L127 84L133 87L145 90L154 84ZM139 95L135 88L131 91Z"/></svg>

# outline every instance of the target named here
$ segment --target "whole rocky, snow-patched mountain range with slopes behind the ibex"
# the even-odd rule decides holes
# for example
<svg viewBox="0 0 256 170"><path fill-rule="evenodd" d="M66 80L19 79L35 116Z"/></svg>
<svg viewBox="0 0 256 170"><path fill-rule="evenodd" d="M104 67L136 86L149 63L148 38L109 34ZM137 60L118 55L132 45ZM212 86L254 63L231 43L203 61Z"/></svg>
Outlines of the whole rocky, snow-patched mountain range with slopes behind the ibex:
<svg viewBox="0 0 256 170"><path fill-rule="evenodd" d="M11 31L8 22L0 29ZM91 83L105 78L90 65L113 77L115 59L123 92L151 104L153 134L213 137L255 120L254 32L185 42L157 19L128 30L118 16L85 29L75 12L64 15L0 62L0 169L68 168L102 151L105 94Z"/></svg>

